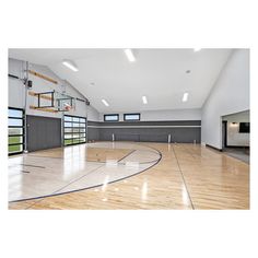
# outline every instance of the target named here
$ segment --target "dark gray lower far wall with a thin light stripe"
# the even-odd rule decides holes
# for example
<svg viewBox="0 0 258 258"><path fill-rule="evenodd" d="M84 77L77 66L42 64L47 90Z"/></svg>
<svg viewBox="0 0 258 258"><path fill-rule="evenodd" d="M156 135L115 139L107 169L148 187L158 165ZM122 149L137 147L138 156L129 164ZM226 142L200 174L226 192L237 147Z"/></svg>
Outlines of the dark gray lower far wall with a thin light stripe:
<svg viewBox="0 0 258 258"><path fill-rule="evenodd" d="M200 143L201 121L138 121L138 122L91 122L87 125L89 140L110 141L155 141Z"/></svg>

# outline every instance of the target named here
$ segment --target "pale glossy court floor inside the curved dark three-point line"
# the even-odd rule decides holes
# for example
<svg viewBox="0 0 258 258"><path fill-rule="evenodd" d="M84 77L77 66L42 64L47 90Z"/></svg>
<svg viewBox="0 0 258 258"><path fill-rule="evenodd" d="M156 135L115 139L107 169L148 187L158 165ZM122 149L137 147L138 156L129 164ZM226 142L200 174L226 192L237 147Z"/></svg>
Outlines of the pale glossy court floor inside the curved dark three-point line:
<svg viewBox="0 0 258 258"><path fill-rule="evenodd" d="M160 157L154 149L127 142L81 144L14 156L9 159L9 200L39 198L94 186L102 186L105 191L109 183L145 171ZM42 168L37 167L39 165ZM25 168L26 173L23 172ZM142 195L145 191L146 186Z"/></svg>

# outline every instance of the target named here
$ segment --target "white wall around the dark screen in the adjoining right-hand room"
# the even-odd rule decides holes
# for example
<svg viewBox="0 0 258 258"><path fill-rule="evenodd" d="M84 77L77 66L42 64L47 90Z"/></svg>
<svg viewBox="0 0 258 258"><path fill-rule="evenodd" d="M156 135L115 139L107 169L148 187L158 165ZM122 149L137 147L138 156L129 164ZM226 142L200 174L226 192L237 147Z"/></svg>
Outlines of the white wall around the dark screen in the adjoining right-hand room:
<svg viewBox="0 0 258 258"><path fill-rule="evenodd" d="M249 146L249 133L239 133L239 122L249 122L249 112L243 112L223 117L227 121L227 145Z"/></svg>

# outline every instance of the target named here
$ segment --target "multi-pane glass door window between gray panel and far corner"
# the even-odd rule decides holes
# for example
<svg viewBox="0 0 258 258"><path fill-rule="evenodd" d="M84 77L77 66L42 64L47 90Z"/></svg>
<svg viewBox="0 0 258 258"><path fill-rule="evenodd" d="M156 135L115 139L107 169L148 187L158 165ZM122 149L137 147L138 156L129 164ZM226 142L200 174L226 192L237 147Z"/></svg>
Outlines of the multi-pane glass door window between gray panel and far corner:
<svg viewBox="0 0 258 258"><path fill-rule="evenodd" d="M86 142L86 118L64 116L63 144L71 145Z"/></svg>

